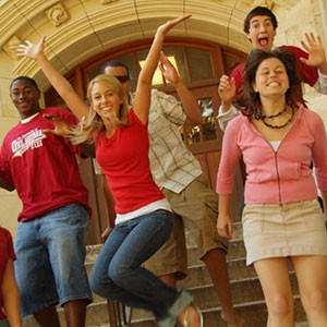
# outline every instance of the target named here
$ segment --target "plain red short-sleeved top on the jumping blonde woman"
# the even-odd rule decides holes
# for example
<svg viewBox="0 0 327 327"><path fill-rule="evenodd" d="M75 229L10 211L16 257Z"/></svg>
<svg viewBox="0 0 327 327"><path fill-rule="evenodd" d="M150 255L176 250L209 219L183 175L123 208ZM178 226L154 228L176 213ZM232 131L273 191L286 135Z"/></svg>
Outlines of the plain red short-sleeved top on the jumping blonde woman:
<svg viewBox="0 0 327 327"><path fill-rule="evenodd" d="M96 142L97 161L112 191L118 214L165 198L149 168L147 125L141 123L133 109L128 121L109 140L102 133Z"/></svg>

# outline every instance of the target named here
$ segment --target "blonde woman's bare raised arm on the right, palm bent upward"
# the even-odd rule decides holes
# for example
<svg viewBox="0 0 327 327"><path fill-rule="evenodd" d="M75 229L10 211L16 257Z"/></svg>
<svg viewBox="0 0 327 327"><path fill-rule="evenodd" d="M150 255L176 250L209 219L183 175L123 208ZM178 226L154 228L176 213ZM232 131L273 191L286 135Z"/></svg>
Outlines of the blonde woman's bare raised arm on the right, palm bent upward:
<svg viewBox="0 0 327 327"><path fill-rule="evenodd" d="M191 15L183 15L172 21L168 21L157 29L153 45L148 51L137 80L135 100L133 105L134 112L143 123L146 123L148 120L152 81L159 62L165 36L172 27L187 20L189 17L191 17Z"/></svg>

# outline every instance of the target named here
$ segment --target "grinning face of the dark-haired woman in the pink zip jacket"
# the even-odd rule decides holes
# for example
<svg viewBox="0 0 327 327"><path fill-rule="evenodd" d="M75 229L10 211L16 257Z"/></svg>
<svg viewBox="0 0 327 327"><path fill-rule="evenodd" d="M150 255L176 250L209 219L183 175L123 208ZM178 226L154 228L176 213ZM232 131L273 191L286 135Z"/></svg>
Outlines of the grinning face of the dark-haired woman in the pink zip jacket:
<svg viewBox="0 0 327 327"><path fill-rule="evenodd" d="M287 70L279 59L268 58L258 65L253 88L261 97L284 95L289 87Z"/></svg>

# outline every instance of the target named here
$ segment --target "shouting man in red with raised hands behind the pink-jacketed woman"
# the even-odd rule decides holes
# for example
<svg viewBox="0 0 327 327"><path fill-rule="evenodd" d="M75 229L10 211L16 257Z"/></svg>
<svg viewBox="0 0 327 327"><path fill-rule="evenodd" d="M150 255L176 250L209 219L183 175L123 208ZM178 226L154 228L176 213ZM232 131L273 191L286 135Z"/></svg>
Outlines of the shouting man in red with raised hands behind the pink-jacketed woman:
<svg viewBox="0 0 327 327"><path fill-rule="evenodd" d="M256 7L246 15L243 31L254 49L269 51L274 47L277 26L277 19L268 8ZM280 48L293 52L303 83L315 87L319 93L327 94L327 62L320 37L316 38L312 33L305 34L305 37L306 43L301 41L301 44L306 52L294 46ZM244 63L240 63L230 76L220 77L218 94L221 106L217 118L222 131L227 123L239 113L232 106L232 101L241 90L243 66Z"/></svg>

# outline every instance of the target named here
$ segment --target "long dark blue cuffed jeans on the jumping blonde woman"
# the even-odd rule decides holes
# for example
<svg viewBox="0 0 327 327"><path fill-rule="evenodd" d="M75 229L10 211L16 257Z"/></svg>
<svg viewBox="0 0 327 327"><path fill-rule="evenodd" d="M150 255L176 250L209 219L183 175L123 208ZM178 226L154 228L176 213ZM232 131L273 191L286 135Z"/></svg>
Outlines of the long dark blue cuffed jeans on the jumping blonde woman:
<svg viewBox="0 0 327 327"><path fill-rule="evenodd" d="M166 242L171 229L172 215L162 209L117 225L92 269L92 290L106 299L152 311L159 326L173 326L192 295L167 287L142 267Z"/></svg>

